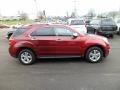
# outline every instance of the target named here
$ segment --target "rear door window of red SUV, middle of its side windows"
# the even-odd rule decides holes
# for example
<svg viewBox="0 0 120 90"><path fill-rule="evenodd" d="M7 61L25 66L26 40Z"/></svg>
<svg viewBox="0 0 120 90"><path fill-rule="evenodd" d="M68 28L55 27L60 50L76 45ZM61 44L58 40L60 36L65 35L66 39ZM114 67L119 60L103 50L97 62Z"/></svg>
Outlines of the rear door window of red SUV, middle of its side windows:
<svg viewBox="0 0 120 90"><path fill-rule="evenodd" d="M55 32L52 27L43 27L33 31L31 36L55 36Z"/></svg>

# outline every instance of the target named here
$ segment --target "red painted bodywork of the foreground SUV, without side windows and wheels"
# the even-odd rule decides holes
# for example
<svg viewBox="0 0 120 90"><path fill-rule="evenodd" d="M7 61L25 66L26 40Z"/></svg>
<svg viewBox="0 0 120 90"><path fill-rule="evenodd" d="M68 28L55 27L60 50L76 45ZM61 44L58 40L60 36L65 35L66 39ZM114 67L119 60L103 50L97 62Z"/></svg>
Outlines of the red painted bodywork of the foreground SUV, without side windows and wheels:
<svg viewBox="0 0 120 90"><path fill-rule="evenodd" d="M73 30L72 28L64 25L32 25L26 32L17 37L11 37L9 39L9 53L11 56L17 57L17 52L21 48L31 49L38 57L39 56L71 56L78 55L84 56L86 50L91 46L100 46L103 49L104 56L109 53L110 46L105 43L99 36L81 35L78 33L78 37L73 38L72 36L34 36L31 37L30 33L36 28L44 26L63 26Z"/></svg>

